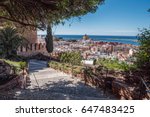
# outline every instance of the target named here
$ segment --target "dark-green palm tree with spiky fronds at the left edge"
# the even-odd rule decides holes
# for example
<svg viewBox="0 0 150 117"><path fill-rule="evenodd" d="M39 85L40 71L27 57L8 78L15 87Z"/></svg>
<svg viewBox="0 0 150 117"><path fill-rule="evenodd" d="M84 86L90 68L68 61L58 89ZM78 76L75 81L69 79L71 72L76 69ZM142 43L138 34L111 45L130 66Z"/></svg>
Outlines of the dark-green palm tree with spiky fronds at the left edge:
<svg viewBox="0 0 150 117"><path fill-rule="evenodd" d="M0 30L0 50L6 58L17 51L18 47L27 43L15 28L6 27Z"/></svg>

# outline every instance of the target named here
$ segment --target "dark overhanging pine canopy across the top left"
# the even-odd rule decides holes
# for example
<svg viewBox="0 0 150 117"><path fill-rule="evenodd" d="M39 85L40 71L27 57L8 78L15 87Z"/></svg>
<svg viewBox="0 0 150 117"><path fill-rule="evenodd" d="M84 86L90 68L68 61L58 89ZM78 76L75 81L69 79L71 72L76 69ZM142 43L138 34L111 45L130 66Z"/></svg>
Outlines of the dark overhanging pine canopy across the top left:
<svg viewBox="0 0 150 117"><path fill-rule="evenodd" d="M0 0L0 21L46 28L46 24L95 12L104 0Z"/></svg>

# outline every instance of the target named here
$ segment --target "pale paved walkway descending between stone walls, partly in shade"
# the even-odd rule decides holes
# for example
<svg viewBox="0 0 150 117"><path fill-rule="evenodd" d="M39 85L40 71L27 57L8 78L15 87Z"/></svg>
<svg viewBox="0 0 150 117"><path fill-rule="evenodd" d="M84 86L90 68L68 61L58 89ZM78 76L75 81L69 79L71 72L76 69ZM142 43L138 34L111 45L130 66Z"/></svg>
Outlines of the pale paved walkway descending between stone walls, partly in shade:
<svg viewBox="0 0 150 117"><path fill-rule="evenodd" d="M47 67L47 62L30 60L30 82L25 90L17 91L16 97L20 99L115 99L111 95L103 95L103 92L95 87L85 85L78 78L56 71Z"/></svg>

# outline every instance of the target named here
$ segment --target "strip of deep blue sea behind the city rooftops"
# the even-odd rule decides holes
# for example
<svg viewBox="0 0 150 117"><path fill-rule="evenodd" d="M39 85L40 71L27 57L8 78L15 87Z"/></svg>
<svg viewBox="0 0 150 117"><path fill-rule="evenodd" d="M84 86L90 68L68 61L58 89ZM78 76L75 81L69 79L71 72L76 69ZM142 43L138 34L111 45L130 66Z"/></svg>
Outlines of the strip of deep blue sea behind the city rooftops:
<svg viewBox="0 0 150 117"><path fill-rule="evenodd" d="M84 35L55 35L58 38L64 40L80 40ZM138 46L137 36L100 36L100 35L88 35L90 39L94 41L103 42L118 42L123 44L132 44Z"/></svg>

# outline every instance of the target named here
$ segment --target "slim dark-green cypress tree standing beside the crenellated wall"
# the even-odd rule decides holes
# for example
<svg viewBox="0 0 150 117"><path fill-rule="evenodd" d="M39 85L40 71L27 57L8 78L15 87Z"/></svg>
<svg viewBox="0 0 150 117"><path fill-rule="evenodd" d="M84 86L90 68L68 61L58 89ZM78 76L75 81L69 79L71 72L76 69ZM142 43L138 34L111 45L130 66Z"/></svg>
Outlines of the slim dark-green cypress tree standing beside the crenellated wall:
<svg viewBox="0 0 150 117"><path fill-rule="evenodd" d="M53 35L52 35L52 27L51 24L47 26L47 35L45 38L46 41L46 49L49 53L53 52Z"/></svg>

